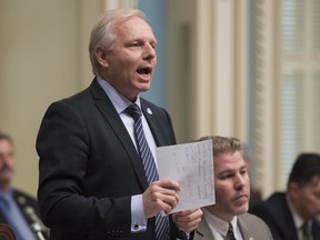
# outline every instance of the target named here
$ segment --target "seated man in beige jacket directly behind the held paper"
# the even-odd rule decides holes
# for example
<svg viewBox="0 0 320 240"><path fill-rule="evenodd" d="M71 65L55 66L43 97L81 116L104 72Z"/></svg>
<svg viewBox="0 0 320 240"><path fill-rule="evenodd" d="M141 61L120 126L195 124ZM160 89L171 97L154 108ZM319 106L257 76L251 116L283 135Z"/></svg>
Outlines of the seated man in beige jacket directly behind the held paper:
<svg viewBox="0 0 320 240"><path fill-rule="evenodd" d="M250 182L243 148L236 138L204 137L213 141L216 204L202 208L194 240L270 240L268 226L247 213Z"/></svg>

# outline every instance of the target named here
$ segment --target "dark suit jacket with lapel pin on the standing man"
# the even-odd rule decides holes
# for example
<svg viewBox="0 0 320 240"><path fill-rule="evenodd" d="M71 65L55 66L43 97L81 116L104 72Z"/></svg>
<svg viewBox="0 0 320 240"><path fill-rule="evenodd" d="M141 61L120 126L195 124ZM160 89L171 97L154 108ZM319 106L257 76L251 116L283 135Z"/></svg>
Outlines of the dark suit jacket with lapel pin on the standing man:
<svg viewBox="0 0 320 240"><path fill-rule="evenodd" d="M141 108L157 146L174 144L167 111L143 99ZM38 199L51 239L154 240L154 218L147 231L130 231L131 196L141 194L148 182L126 127L96 79L82 92L49 107L37 151ZM177 229L171 227L174 239Z"/></svg>

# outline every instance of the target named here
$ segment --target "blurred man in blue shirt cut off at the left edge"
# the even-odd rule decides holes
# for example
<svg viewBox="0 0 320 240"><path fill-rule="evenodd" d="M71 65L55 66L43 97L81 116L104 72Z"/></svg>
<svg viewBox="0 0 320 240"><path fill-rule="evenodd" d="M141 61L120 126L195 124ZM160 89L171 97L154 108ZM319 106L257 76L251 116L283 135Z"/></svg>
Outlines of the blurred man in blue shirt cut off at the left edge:
<svg viewBox="0 0 320 240"><path fill-rule="evenodd" d="M11 186L14 164L13 141L10 136L0 132L0 223L10 226L17 240L36 240L39 234L46 233L46 227L38 218L36 198Z"/></svg>

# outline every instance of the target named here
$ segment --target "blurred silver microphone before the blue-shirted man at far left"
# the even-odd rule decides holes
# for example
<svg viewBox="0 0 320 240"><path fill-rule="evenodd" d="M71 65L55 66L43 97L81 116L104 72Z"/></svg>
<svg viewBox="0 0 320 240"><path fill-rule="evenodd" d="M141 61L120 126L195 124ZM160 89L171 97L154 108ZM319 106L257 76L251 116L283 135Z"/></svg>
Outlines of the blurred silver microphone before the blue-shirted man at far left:
<svg viewBox="0 0 320 240"><path fill-rule="evenodd" d="M33 208L31 208L30 206L27 206L24 208L24 212L29 217L29 219L32 221L32 224L30 226L30 228L37 234L38 239L46 240L47 238L49 238L49 229L42 223L42 221L36 214Z"/></svg>

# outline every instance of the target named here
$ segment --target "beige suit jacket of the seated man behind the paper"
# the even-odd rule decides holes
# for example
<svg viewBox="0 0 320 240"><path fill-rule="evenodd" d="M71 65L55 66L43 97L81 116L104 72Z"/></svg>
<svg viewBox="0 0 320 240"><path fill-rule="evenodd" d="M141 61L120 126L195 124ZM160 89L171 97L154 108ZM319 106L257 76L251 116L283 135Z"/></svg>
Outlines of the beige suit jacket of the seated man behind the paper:
<svg viewBox="0 0 320 240"><path fill-rule="evenodd" d="M272 240L268 226L256 216L244 213L238 216L238 224L244 240ZM194 240L214 240L206 218L194 231Z"/></svg>

